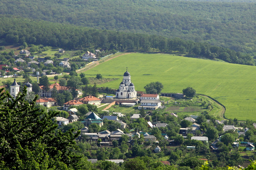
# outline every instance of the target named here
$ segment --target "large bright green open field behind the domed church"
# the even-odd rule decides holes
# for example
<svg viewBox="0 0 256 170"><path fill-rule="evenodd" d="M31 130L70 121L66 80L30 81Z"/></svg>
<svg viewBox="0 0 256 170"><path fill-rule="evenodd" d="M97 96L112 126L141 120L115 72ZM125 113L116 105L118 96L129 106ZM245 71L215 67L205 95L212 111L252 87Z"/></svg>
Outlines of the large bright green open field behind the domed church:
<svg viewBox="0 0 256 170"><path fill-rule="evenodd" d="M137 91L144 91L144 86L154 81L162 82L162 92L166 93L180 93L183 88L190 86L198 94L208 95L222 103L227 109L227 119L236 117L240 121L256 121L255 66L133 53L101 63L85 73L89 77L101 73L106 78L119 78L100 85L117 89L126 67Z"/></svg>

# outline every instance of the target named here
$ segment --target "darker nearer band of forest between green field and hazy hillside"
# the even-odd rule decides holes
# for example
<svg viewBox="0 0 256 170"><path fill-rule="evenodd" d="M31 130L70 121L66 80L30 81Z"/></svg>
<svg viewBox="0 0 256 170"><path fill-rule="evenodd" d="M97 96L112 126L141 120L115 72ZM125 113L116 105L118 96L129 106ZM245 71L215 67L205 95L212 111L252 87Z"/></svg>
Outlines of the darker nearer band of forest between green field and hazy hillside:
<svg viewBox="0 0 256 170"><path fill-rule="evenodd" d="M97 30L14 16L0 16L0 38L5 38L5 41L10 44L26 42L66 49L82 49L91 46L95 49L141 49L146 52L153 49L153 51L189 53L195 54L193 57L203 56L230 63L255 65L255 59L246 53L212 46L209 43L195 43L158 35Z"/></svg>

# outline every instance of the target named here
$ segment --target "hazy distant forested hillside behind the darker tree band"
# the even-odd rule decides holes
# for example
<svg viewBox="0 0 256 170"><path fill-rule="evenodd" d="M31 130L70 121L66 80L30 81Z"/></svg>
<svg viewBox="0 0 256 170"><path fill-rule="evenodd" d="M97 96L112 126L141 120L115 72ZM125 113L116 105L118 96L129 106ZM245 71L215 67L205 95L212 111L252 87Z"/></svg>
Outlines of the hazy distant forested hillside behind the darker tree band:
<svg viewBox="0 0 256 170"><path fill-rule="evenodd" d="M207 41L255 56L256 3L232 2L4 0L0 14Z"/></svg>

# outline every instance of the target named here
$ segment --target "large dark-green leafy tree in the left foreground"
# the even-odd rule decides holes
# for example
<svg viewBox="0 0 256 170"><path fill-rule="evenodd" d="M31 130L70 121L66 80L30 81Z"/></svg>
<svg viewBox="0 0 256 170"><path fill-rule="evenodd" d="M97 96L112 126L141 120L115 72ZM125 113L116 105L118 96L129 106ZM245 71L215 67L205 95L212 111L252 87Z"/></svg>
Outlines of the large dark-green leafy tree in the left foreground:
<svg viewBox="0 0 256 170"><path fill-rule="evenodd" d="M72 130L55 133L55 111L35 108L24 100L27 90L14 99L0 89L0 169L79 169L80 157Z"/></svg>

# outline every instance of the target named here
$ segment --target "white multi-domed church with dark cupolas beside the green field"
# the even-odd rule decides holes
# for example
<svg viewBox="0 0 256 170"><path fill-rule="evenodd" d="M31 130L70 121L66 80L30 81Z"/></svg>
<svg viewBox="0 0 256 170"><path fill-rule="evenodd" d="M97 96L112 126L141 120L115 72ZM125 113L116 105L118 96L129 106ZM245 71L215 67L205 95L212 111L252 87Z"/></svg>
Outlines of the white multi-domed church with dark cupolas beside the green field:
<svg viewBox="0 0 256 170"><path fill-rule="evenodd" d="M123 81L116 90L115 96L118 99L131 99L137 97L137 91L135 91L134 84L131 82L131 75L127 71L127 68L123 76Z"/></svg>

